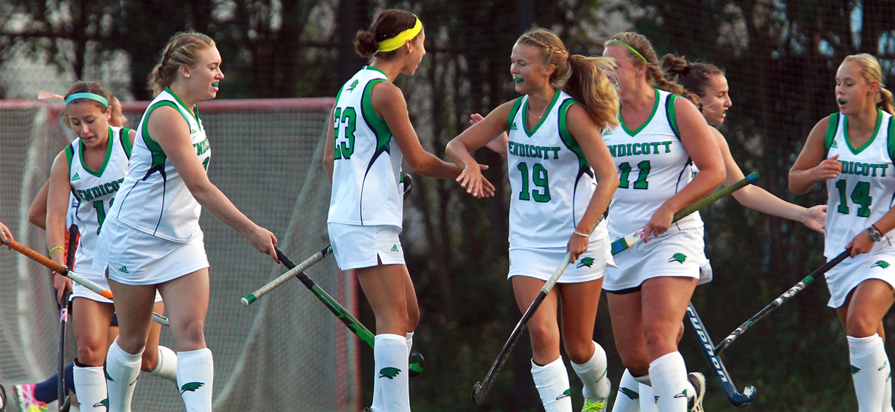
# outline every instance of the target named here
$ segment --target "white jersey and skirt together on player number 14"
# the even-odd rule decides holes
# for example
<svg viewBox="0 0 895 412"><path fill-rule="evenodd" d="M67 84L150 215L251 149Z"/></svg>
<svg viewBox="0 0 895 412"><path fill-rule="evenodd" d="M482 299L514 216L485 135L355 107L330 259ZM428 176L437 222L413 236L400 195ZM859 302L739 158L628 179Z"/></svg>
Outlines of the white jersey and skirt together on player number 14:
<svg viewBox="0 0 895 412"><path fill-rule="evenodd" d="M878 110L876 128L864 146L855 148L848 140L848 116L830 115L824 139L825 159L839 155L840 176L828 179L827 221L824 256L832 259L845 250L859 233L881 219L895 198L895 122ZM827 271L831 307L845 303L848 293L866 279L882 279L895 287L895 231L882 237L870 253L848 258Z"/></svg>

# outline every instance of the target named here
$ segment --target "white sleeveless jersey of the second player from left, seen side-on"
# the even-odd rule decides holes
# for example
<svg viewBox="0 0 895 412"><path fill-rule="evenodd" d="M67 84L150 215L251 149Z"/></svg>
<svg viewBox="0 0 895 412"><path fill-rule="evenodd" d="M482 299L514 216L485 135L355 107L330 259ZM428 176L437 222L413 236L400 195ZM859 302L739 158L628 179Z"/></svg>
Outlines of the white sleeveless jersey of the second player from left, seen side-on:
<svg viewBox="0 0 895 412"><path fill-rule="evenodd" d="M199 202L183 183L174 165L167 159L158 142L149 136L149 114L157 107L174 107L190 126L190 142L206 170L209 168L211 148L199 119L199 109L191 112L174 92L166 89L149 103L137 127L133 143L131 169L124 177L119 200L111 210L112 216L141 232L172 242L185 243L199 236Z"/></svg>

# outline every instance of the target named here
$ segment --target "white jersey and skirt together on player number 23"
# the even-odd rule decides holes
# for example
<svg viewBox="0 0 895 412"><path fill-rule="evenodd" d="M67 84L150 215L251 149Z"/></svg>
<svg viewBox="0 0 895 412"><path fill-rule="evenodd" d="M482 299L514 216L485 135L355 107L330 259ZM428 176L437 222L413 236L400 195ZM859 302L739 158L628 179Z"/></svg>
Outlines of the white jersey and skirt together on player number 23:
<svg viewBox="0 0 895 412"><path fill-rule="evenodd" d="M342 270L403 264L401 149L373 110L371 93L385 73L364 66L339 90L333 109L335 138L327 226Z"/></svg>

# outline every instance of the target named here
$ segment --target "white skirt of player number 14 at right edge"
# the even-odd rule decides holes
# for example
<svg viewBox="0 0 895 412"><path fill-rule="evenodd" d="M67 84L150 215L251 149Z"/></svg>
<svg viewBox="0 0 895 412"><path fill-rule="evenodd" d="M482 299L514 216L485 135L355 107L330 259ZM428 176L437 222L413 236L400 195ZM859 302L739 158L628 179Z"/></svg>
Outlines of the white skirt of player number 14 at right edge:
<svg viewBox="0 0 895 412"><path fill-rule="evenodd" d="M837 308L845 305L852 290L867 279L880 279L895 288L895 246L888 242L874 245L870 253L846 258L826 273L827 287L830 288L828 306Z"/></svg>

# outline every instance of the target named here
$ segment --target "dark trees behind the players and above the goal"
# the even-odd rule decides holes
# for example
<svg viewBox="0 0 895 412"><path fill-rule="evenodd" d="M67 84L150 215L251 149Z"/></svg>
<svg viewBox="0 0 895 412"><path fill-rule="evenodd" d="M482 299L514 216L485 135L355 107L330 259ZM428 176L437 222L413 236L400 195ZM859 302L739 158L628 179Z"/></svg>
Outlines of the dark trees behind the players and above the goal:
<svg viewBox="0 0 895 412"><path fill-rule="evenodd" d="M615 31L633 29L652 39L660 55L724 67L734 107L721 131L734 158L746 173L761 174L759 185L805 206L825 202L825 193L818 187L805 196L789 194L788 168L811 127L836 110L833 78L842 58L874 54L883 81L895 81L891 0L4 0L0 67L22 51L48 53L60 70L81 77L88 59L102 62L123 51L131 62L132 95L149 99L145 80L166 39L193 29L216 39L225 58L223 99L332 96L364 64L354 56L354 32L384 7L409 9L425 23L429 56L417 75L398 82L423 145L439 156L470 113L516 97L509 52L533 24L555 30L575 53L600 54ZM497 185L494 199L473 200L453 182L422 177L407 202L405 250L422 307L416 345L429 361L428 371L411 383L414 409L540 410L527 342L516 347L488 402L476 407L469 400L473 382L482 379L519 316L506 280L505 167L487 150L477 156L492 165L487 176ZM715 281L698 288L693 301L715 339L823 263L823 236L799 223L732 200L705 210L703 219ZM826 307L823 280L818 283L726 352L740 388L758 386L750 408L857 408L845 334ZM366 308L362 320L373 323ZM891 331L895 322L887 318L886 326ZM681 351L691 370L709 376L691 334L688 328ZM891 348L895 336L888 335ZM621 366L605 304L595 339L609 353L617 384ZM371 359L364 362L369 370ZM580 387L576 378L572 382ZM733 410L711 376L709 382L707 409Z"/></svg>

